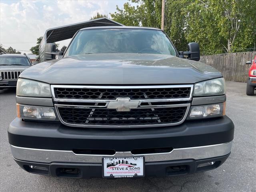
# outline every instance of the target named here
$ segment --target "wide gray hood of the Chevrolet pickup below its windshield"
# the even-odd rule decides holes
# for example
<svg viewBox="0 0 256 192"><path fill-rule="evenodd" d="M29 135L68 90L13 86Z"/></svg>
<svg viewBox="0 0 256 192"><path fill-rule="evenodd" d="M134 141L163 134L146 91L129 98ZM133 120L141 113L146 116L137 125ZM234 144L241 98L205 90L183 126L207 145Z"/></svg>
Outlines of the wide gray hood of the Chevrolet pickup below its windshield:
<svg viewBox="0 0 256 192"><path fill-rule="evenodd" d="M206 64L161 54L84 54L36 64L22 78L49 84L192 84L222 77Z"/></svg>

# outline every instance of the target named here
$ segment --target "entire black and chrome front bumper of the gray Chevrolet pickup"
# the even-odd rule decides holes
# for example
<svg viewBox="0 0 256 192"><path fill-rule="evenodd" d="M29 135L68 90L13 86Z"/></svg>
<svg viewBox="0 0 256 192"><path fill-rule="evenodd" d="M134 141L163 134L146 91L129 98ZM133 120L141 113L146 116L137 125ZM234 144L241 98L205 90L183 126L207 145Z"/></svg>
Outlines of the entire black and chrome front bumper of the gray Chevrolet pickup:
<svg viewBox="0 0 256 192"><path fill-rule="evenodd" d="M177 174L213 169L230 154L233 136L234 124L227 116L186 121L178 126L126 130L70 128L59 123L24 122L16 118L8 128L12 155L22 168L36 173L29 166L39 164L37 166L47 168L47 174L56 176L61 167L76 166L83 172L76 175L78 178L101 176L103 156L144 156L146 176L168 176L170 166L178 164L184 165L186 172ZM132 152L151 148L172 150L150 154ZM115 153L77 154L76 149L112 150ZM204 170L197 168L203 161L216 163ZM86 171L88 169L96 169L98 173L100 169L100 174L94 175L94 172Z"/></svg>

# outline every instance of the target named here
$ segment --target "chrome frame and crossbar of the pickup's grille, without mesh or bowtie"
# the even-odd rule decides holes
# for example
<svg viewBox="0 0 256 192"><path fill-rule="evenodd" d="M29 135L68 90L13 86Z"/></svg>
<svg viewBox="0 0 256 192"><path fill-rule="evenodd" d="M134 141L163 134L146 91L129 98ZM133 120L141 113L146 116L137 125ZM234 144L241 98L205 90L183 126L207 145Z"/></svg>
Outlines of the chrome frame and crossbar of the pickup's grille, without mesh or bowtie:
<svg viewBox="0 0 256 192"><path fill-rule="evenodd" d="M193 93L193 85L161 85L161 86L72 86L72 85L51 85L52 90L52 96L54 100L54 106L56 108L57 116L59 120L62 122L62 124L67 126L74 126L74 127L94 127L94 128L141 128L141 127L158 127L158 126L174 126L181 124L186 119L189 109L190 109L190 102L192 100L192 93ZM108 104L110 102L116 101L114 100L103 100L103 99L67 99L67 98L56 98L54 88L91 88L91 89L145 89L145 88L189 88L190 94L188 98L164 98L164 99L148 99L145 95L145 99L139 99L134 100L130 99L130 101L137 101L138 107L135 110L140 109L151 109L154 111L154 108L181 108L186 107L186 110L184 112L183 118L179 122L173 122L173 123L159 123L159 124L132 124L132 125L124 125L124 124L72 124L64 119L62 119L62 115L59 111L59 108L80 108L80 109L90 109L92 110L92 115L94 113L94 110L104 110L105 112L108 109ZM124 98L123 98L124 99ZM127 98L126 98L127 99ZM174 103L172 103L174 102ZM158 104L159 103L159 104ZM113 110L113 109L111 109ZM134 109L132 109L134 110ZM120 112L120 114L124 114L124 112ZM90 115L91 115L90 114ZM105 116L106 117L106 116ZM156 115L157 117L157 115ZM92 116L88 116L88 120L90 120ZM148 117L146 117L148 118ZM99 118L96 118L96 120ZM106 118L105 118L106 119ZM143 118L140 118L140 116L136 120L140 120ZM159 121L159 118L155 118ZM112 120L112 119L111 119ZM121 119L124 120L124 119ZM128 119L126 119L128 120Z"/></svg>

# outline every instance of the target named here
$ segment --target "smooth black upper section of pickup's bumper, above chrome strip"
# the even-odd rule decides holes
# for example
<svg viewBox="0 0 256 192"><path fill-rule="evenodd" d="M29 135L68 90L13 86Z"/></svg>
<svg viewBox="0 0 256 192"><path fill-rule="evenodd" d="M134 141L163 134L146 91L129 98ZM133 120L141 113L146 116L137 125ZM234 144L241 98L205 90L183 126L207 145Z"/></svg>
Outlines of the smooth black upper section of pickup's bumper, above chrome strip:
<svg viewBox="0 0 256 192"><path fill-rule="evenodd" d="M226 143L233 137L234 124L227 116L186 121L178 126L126 130L75 128L59 123L24 122L16 118L8 128L9 143L13 146L71 151L188 148Z"/></svg>

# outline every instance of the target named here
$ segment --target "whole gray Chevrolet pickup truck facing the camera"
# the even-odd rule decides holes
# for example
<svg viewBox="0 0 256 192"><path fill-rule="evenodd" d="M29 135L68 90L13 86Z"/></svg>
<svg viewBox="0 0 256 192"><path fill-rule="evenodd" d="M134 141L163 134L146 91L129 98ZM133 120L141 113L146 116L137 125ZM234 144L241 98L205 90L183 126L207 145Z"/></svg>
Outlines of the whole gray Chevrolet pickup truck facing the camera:
<svg viewBox="0 0 256 192"><path fill-rule="evenodd" d="M91 27L63 53L20 74L8 128L24 170L68 178L174 176L212 170L230 155L222 74L177 52L160 29ZM55 56L63 58L55 60Z"/></svg>

